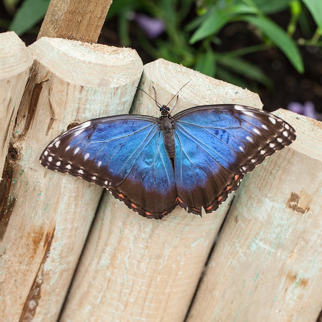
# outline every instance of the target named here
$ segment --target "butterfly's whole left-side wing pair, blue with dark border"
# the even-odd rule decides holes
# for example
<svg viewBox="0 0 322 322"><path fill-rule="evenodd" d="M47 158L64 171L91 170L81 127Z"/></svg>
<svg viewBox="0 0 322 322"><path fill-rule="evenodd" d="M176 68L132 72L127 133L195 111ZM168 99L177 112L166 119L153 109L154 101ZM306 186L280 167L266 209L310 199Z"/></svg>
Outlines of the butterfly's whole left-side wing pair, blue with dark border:
<svg viewBox="0 0 322 322"><path fill-rule="evenodd" d="M108 188L145 217L162 218L178 204L173 166L154 117L87 121L54 139L40 163Z"/></svg>

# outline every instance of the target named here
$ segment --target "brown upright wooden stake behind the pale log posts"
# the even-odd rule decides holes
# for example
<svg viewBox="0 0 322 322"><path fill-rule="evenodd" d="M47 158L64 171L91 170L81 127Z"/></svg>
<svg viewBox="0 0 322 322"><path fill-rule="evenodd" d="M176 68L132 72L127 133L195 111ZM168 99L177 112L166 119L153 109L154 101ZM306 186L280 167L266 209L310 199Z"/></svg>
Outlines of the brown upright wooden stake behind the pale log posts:
<svg viewBox="0 0 322 322"><path fill-rule="evenodd" d="M41 37L64 38L97 43L112 0L51 0Z"/></svg>

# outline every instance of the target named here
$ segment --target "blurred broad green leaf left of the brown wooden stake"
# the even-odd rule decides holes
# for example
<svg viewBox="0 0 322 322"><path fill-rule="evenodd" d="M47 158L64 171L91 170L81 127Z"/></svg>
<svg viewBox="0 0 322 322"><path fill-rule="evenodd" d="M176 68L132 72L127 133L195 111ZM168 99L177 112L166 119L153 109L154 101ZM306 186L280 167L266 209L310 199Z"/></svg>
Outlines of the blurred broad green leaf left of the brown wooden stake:
<svg viewBox="0 0 322 322"><path fill-rule="evenodd" d="M50 0L25 0L9 26L9 30L22 35L45 17Z"/></svg>

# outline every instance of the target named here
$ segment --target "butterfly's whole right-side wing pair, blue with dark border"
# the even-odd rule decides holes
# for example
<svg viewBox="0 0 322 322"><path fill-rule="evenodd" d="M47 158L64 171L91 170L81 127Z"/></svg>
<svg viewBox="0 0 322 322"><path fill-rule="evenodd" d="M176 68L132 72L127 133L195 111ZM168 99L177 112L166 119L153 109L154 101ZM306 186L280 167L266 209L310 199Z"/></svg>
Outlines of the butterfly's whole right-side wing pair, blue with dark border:
<svg viewBox="0 0 322 322"><path fill-rule="evenodd" d="M216 210L244 174L296 137L277 116L240 105L198 106L173 120L179 204L198 215Z"/></svg>

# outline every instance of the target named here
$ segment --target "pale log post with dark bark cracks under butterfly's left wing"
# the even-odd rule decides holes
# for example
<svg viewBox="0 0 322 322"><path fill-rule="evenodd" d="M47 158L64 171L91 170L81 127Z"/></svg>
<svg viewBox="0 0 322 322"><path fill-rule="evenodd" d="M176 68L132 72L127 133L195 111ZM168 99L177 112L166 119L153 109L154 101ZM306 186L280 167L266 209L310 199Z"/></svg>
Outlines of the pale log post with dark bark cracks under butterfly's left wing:
<svg viewBox="0 0 322 322"><path fill-rule="evenodd" d="M28 47L29 78L3 182L0 316L55 321L103 188L43 168L39 156L72 122L128 112L142 72L129 48L43 37Z"/></svg>

